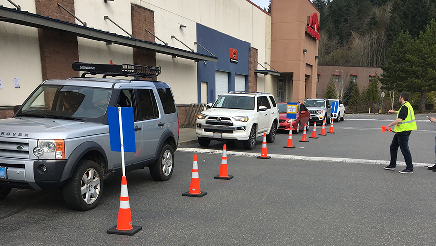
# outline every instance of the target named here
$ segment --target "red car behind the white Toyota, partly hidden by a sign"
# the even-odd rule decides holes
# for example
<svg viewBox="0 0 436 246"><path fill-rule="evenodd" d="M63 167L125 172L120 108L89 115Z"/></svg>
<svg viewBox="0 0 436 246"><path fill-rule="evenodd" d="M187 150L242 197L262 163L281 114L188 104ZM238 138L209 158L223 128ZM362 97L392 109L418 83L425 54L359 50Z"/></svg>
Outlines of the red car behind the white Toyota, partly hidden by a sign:
<svg viewBox="0 0 436 246"><path fill-rule="evenodd" d="M286 118L286 105L287 102L277 103L277 107L280 113L280 126L279 130L287 130L289 131L292 127L292 131L295 133L299 133L300 130L303 130L306 124L306 130L309 129L309 120L310 120L310 112L307 110L306 106L303 103L297 103L297 118L289 119Z"/></svg>

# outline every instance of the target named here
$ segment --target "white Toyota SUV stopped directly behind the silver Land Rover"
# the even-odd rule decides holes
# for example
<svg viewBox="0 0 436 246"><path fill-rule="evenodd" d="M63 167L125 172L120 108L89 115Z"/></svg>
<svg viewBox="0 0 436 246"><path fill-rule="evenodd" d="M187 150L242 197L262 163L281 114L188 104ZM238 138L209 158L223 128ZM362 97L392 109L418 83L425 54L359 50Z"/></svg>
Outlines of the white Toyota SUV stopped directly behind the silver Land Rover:
<svg viewBox="0 0 436 246"><path fill-rule="evenodd" d="M208 146L211 140L243 141L253 149L256 138L266 132L273 143L279 112L274 96L263 92L230 92L220 95L212 108L197 115L198 143Z"/></svg>

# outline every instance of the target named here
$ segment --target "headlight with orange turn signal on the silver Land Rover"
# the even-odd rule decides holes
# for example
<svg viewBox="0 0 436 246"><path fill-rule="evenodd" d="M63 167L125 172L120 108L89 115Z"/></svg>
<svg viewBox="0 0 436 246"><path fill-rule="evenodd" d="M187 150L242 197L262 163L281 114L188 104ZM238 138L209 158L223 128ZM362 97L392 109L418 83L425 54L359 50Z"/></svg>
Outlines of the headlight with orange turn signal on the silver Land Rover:
<svg viewBox="0 0 436 246"><path fill-rule="evenodd" d="M33 149L38 159L65 159L64 140L38 140L38 146Z"/></svg>

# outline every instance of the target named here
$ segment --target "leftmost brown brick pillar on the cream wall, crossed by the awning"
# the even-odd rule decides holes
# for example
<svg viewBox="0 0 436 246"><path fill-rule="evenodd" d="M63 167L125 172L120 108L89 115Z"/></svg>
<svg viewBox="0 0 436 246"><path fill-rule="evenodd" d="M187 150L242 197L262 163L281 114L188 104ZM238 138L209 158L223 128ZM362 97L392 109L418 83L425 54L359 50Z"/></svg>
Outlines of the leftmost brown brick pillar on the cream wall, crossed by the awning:
<svg viewBox="0 0 436 246"><path fill-rule="evenodd" d="M57 2L74 14L74 0L35 0L36 13L75 23L74 17L59 7ZM38 29L38 40L43 80L79 76L79 72L71 69L71 64L79 61L77 36Z"/></svg>

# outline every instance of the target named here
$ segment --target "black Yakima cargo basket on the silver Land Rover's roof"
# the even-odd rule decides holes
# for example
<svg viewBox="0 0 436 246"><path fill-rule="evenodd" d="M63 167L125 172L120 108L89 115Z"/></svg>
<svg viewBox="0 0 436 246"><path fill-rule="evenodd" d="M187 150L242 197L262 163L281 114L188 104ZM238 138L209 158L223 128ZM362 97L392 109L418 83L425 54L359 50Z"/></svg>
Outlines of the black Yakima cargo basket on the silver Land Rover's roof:
<svg viewBox="0 0 436 246"><path fill-rule="evenodd" d="M72 68L74 71L84 71L82 77L87 74L97 75L103 74L103 78L106 76L134 76L136 79L157 77L161 73L161 67L154 66L142 66L134 64L95 64L95 63L85 63L85 62L73 62Z"/></svg>

